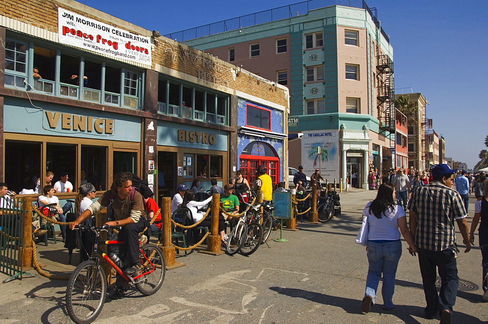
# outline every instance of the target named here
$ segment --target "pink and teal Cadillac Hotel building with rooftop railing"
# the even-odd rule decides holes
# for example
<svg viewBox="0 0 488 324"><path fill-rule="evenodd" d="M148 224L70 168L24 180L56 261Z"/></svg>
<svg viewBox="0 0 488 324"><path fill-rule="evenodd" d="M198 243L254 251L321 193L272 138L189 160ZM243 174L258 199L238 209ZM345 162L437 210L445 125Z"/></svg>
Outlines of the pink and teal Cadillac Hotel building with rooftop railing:
<svg viewBox="0 0 488 324"><path fill-rule="evenodd" d="M395 166L393 48L364 1L311 0L166 35L290 89L289 163L329 179ZM341 5L345 4L345 5ZM319 152L320 151L320 152Z"/></svg>

